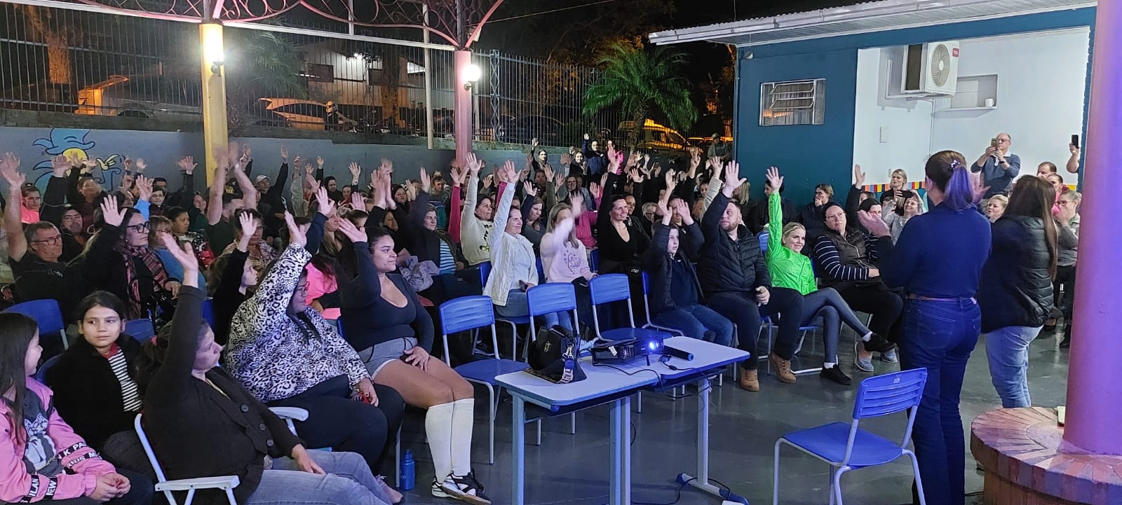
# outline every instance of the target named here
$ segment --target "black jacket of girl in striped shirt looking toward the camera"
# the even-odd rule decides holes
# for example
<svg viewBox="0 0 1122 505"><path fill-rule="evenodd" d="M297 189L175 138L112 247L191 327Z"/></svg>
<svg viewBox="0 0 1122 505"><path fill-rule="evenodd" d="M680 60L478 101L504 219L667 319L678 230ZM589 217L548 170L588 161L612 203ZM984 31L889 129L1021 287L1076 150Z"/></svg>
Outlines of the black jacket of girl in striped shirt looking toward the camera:
<svg viewBox="0 0 1122 505"><path fill-rule="evenodd" d="M117 345L129 364L129 376L135 378L132 364L140 354L140 344L121 334ZM132 430L137 413L125 411L121 383L113 375L109 359L98 354L85 338L74 340L46 378L55 392L58 414L94 449L101 450L109 436Z"/></svg>

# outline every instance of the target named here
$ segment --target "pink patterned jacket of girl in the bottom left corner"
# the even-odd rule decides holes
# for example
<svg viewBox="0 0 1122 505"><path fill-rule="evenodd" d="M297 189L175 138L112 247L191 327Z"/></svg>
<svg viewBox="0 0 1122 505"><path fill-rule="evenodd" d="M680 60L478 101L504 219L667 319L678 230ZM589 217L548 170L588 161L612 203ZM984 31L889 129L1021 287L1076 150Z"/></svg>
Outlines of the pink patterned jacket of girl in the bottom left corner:
<svg viewBox="0 0 1122 505"><path fill-rule="evenodd" d="M64 468L58 475L28 474L24 462L27 441L17 443L12 424L8 420L11 412L8 404L0 402L0 502L28 503L44 499L77 498L93 493L98 476L117 471L111 464L101 459L98 452L85 445L85 440L74 433L66 421L58 417L50 402L50 389L31 377L27 377L27 391L39 395L48 412L47 436L54 441L54 455ZM20 420L22 422L22 420Z"/></svg>

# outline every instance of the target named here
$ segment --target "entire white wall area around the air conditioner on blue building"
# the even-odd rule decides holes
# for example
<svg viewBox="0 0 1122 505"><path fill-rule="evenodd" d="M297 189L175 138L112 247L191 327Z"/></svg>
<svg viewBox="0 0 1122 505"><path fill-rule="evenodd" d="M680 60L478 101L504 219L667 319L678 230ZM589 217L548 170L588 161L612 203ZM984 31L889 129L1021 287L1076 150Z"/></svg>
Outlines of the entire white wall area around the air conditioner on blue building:
<svg viewBox="0 0 1122 505"><path fill-rule="evenodd" d="M974 161L999 132L1012 135L1022 175L1041 161L1063 167L1083 125L1088 35L1082 28L959 40L959 76L997 74L997 107L984 111L947 111L949 99L886 100L895 94L890 83L899 88L903 47L859 50L853 151L865 184L888 183L894 168L921 180L927 157L944 149Z"/></svg>

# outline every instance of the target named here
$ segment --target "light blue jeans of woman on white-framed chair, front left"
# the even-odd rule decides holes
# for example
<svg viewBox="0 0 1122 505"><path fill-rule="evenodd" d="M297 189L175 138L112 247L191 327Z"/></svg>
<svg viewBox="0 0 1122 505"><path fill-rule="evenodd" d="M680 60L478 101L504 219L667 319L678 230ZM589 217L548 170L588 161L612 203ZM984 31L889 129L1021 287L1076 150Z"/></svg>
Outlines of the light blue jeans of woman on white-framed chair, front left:
<svg viewBox="0 0 1122 505"><path fill-rule="evenodd" d="M273 460L273 469L261 474L261 484L242 505L388 505L366 460L355 452L307 453L325 475L302 471L292 458Z"/></svg>

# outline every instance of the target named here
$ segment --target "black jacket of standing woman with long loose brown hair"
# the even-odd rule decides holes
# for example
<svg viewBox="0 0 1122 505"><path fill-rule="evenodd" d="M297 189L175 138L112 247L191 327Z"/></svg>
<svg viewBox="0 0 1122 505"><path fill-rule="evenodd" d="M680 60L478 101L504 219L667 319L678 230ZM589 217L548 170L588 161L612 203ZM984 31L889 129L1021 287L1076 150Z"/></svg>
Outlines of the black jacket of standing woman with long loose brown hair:
<svg viewBox="0 0 1122 505"><path fill-rule="evenodd" d="M1050 260L1039 218L1004 216L993 224L993 246L977 292L982 331L1045 324L1052 309Z"/></svg>

